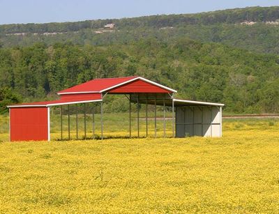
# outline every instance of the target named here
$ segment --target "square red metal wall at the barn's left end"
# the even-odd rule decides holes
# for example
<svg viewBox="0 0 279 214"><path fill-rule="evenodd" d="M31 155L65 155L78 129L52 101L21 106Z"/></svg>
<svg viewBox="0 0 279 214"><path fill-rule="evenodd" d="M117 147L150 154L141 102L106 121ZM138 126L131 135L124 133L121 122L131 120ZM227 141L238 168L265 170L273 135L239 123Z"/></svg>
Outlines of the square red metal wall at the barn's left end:
<svg viewBox="0 0 279 214"><path fill-rule="evenodd" d="M10 140L47 140L47 107L10 108Z"/></svg>

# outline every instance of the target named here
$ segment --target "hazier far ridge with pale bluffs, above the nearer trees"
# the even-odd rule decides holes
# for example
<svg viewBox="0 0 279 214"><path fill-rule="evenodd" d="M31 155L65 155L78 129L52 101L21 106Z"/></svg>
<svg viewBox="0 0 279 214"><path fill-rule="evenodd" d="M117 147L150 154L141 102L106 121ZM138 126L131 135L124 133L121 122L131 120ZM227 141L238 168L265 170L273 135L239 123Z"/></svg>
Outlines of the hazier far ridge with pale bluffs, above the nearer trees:
<svg viewBox="0 0 279 214"><path fill-rule="evenodd" d="M255 52L279 54L279 7L252 7L182 15L152 15L119 20L0 25L4 47L71 42L79 45L126 44L142 38L172 42L192 38ZM105 24L114 23L112 29Z"/></svg>

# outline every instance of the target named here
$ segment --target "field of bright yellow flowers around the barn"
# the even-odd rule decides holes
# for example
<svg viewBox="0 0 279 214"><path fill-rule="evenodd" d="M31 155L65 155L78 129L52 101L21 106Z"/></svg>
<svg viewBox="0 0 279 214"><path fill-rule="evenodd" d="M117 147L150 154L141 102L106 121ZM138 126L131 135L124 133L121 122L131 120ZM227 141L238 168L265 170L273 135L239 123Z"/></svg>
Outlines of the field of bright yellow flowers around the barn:
<svg viewBox="0 0 279 214"><path fill-rule="evenodd" d="M2 140L0 213L277 213L278 130L230 119L220 139Z"/></svg>

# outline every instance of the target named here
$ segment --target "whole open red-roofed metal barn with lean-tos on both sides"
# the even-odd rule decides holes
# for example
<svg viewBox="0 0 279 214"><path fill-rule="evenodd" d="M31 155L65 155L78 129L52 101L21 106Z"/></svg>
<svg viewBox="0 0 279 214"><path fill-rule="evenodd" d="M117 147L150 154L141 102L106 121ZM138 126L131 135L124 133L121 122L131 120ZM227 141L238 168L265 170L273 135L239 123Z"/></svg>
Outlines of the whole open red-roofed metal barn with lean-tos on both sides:
<svg viewBox="0 0 279 214"><path fill-rule="evenodd" d="M193 135L220 137L222 135L223 104L176 100L174 99L174 93L176 93L176 90L143 77L93 79L84 84L59 91L57 94L60 96L60 100L8 106L10 110L10 140L50 140L50 107L61 106L62 109L63 105L69 107L69 105L86 102L100 102L101 138L103 139L103 99L107 94L123 94L126 95L130 103L137 103L138 137L140 136L140 104L146 105L146 136L149 131L147 125L148 105L163 106L164 137L166 107L172 107L173 137ZM131 137L131 107L129 109L129 136ZM192 113L190 113L191 111ZM156 137L156 120L155 108L154 137ZM68 121L70 121L69 115ZM217 132L216 125L218 125L219 132ZM84 129L86 135L85 125ZM70 122L68 123L68 132L70 133Z"/></svg>

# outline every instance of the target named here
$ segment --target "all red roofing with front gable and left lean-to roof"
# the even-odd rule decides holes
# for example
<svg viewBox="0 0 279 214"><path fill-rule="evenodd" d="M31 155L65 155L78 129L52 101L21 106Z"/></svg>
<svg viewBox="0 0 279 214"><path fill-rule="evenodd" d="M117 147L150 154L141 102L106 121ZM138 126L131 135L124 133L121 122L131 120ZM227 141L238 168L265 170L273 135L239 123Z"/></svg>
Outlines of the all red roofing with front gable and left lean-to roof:
<svg viewBox="0 0 279 214"><path fill-rule="evenodd" d="M93 79L89 82L73 86L69 89L59 91L60 100L29 102L8 107L49 107L53 105L67 105L81 102L102 101L102 93L173 93L169 89L156 82L143 77L119 77Z"/></svg>

